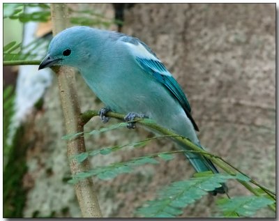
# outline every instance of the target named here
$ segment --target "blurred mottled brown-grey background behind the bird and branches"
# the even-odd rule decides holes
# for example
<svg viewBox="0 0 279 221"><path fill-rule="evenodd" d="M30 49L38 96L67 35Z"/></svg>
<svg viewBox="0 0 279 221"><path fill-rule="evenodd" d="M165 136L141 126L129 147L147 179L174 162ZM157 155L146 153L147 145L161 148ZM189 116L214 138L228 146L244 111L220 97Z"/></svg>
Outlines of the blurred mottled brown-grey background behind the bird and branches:
<svg viewBox="0 0 279 221"><path fill-rule="evenodd" d="M43 58L51 39L49 8L22 8L27 15L36 10L45 12L38 22L34 22L36 13L32 14L33 20L22 16L22 23L8 18L8 13L16 8L10 5L3 8L7 15L3 20L3 45L23 40L23 45L28 46L40 39L44 42L40 47L25 46L25 49L36 54L36 59ZM275 3L69 3L68 6L72 25L121 31L149 45L187 94L203 146L275 191ZM67 183L70 169L66 142L61 139L65 129L56 77L50 70L41 73L38 66L21 68L3 68L4 217L80 217L73 185ZM80 75L76 79L82 111L103 107ZM100 119L94 118L85 130L102 126ZM123 128L87 137L86 148L126 144L151 136L142 128ZM92 161L94 166L107 165L175 149L172 142L160 140ZM157 190L193 173L183 155L176 155L176 160L138 167L133 173L110 181L98 178L93 181L103 216L128 218L137 217L135 209L153 199ZM232 196L248 194L235 181L228 186ZM218 215L214 204L218 197L221 196L203 197L188 206L181 217ZM267 218L274 214L262 210L256 216Z"/></svg>

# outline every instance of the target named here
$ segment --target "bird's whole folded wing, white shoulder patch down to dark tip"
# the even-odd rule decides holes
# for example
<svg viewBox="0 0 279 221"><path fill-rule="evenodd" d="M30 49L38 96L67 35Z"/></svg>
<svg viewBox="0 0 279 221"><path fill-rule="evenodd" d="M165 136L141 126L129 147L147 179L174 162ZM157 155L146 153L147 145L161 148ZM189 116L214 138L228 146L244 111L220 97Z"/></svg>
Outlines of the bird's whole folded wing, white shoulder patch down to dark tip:
<svg viewBox="0 0 279 221"><path fill-rule="evenodd" d="M183 107L188 118L193 123L195 130L199 131L197 124L190 114L191 107L185 94L174 77L172 77L171 73L169 73L167 68L165 68L163 63L158 59L156 54L137 38L124 36L124 40L122 41L130 47L139 66L144 69L146 73L151 74L156 80L158 80L158 82L163 84L163 86L171 92L172 96L179 101L181 107Z"/></svg>

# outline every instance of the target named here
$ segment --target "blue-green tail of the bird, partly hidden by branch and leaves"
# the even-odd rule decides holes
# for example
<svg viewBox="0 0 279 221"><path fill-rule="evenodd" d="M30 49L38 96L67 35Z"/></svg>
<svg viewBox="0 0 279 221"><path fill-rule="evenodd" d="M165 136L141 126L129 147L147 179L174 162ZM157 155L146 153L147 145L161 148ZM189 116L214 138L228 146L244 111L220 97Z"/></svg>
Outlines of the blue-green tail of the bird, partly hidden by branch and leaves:
<svg viewBox="0 0 279 221"><path fill-rule="evenodd" d="M200 145L199 145L200 146ZM203 148L202 146L200 146ZM213 165L213 162L208 158L204 158L202 155L197 155L195 153L186 153L186 157L190 160L190 163L193 165L197 172L206 172L211 171L214 174L218 174L218 169ZM221 183L222 186L220 188L216 188L211 192L212 195L216 195L217 193L224 194L227 192L227 185L225 183Z"/></svg>

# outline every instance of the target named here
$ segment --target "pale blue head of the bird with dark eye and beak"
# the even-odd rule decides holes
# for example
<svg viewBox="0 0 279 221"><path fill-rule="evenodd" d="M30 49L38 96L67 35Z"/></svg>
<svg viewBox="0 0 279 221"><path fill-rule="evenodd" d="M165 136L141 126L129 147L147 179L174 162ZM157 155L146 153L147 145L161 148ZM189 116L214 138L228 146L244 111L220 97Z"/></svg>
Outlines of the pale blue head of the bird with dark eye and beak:
<svg viewBox="0 0 279 221"><path fill-rule="evenodd" d="M40 63L39 70L51 66L72 66L80 69L94 61L94 33L96 29L75 26L54 36L48 47L47 56Z"/></svg>

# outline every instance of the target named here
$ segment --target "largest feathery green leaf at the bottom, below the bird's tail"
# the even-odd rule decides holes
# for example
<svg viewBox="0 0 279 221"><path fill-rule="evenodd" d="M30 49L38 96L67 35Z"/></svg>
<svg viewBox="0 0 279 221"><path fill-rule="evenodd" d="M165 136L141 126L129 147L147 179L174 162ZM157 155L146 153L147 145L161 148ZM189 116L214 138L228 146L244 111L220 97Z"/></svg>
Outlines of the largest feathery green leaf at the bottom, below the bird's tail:
<svg viewBox="0 0 279 221"><path fill-rule="evenodd" d="M186 181L172 183L158 192L158 197L147 201L146 205L137 209L137 213L148 218L172 218L180 215L182 209L193 204L197 199L207 195L209 191L220 187L230 178L243 178L229 174L212 174L202 172Z"/></svg>

